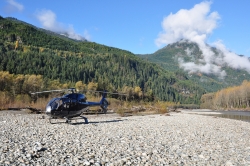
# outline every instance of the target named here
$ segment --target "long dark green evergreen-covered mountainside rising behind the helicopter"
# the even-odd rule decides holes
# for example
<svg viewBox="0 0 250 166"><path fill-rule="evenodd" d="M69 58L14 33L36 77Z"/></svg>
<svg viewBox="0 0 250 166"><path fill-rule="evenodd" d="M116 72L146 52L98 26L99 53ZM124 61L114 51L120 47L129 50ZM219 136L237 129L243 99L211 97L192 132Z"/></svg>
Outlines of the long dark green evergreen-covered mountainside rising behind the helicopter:
<svg viewBox="0 0 250 166"><path fill-rule="evenodd" d="M16 19L0 17L0 29L0 71L17 77L42 75L45 80L71 85L96 82L98 89L136 89L141 99L153 96L151 99L184 104L198 104L205 93L187 77L176 77L126 50L75 41ZM45 83L43 89L46 87Z"/></svg>

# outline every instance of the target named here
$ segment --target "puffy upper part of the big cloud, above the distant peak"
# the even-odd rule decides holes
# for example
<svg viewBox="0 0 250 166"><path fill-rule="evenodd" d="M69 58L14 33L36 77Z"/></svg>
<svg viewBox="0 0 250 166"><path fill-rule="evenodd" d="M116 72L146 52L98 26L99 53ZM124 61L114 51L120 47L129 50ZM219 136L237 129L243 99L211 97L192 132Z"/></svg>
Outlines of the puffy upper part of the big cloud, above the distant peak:
<svg viewBox="0 0 250 166"><path fill-rule="evenodd" d="M163 32L156 39L158 46L169 44L181 39L193 42L203 42L207 34L217 27L219 14L209 13L211 2L202 2L192 9L181 9L176 14L170 14L162 22Z"/></svg>

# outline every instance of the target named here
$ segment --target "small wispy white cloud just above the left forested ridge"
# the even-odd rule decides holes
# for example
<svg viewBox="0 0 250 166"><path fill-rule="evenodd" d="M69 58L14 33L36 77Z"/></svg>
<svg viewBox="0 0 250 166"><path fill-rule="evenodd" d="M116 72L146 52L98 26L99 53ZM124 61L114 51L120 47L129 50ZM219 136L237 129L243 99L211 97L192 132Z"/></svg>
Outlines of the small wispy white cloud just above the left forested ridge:
<svg viewBox="0 0 250 166"><path fill-rule="evenodd" d="M36 17L42 24L43 28L47 30L51 30L60 34L64 34L68 36L69 38L76 39L76 40L84 39L81 35L75 32L73 25L65 26L63 23L58 22L56 20L56 14L51 10L46 10L46 9L40 10L36 13Z"/></svg>

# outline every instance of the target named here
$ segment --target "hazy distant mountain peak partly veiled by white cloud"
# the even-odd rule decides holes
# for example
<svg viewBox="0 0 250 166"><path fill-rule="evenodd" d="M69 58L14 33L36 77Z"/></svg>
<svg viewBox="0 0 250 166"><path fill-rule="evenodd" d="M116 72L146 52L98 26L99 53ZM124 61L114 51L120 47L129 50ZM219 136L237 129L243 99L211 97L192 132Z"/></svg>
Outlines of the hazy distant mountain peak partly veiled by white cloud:
<svg viewBox="0 0 250 166"><path fill-rule="evenodd" d="M219 56L219 50L213 47L210 47L210 50L215 53L215 57ZM182 40L169 44L153 54L138 56L149 62L156 63L166 71L174 72L177 78L186 77L186 79L192 80L197 85L203 87L207 92L218 91L228 86L240 85L243 80L250 80L250 74L247 71L234 69L227 64L218 65L222 62L216 62L216 60L212 62L212 65L218 67L221 73L226 73L224 77L220 77L221 73L194 72L192 69L184 70L182 67L183 63L196 64L190 66L190 68L205 65L202 61L202 51L196 43L190 41Z"/></svg>

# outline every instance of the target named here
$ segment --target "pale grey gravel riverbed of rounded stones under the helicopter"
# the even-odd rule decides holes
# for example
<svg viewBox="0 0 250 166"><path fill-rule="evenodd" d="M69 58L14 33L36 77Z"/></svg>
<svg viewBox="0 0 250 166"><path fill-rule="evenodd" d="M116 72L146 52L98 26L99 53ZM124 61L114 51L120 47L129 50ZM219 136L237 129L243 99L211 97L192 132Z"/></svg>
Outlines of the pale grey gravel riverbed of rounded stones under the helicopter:
<svg viewBox="0 0 250 166"><path fill-rule="evenodd" d="M50 124L0 111L0 165L250 165L250 123L187 113Z"/></svg>

